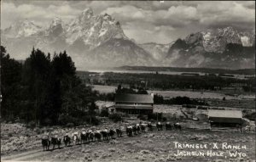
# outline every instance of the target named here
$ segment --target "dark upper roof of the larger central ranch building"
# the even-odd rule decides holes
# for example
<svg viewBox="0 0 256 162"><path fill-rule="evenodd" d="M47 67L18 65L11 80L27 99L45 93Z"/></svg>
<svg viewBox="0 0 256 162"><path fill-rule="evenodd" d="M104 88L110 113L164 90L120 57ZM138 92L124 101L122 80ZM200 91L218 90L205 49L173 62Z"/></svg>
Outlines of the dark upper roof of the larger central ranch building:
<svg viewBox="0 0 256 162"><path fill-rule="evenodd" d="M115 94L115 103L154 103L154 99L148 94Z"/></svg>

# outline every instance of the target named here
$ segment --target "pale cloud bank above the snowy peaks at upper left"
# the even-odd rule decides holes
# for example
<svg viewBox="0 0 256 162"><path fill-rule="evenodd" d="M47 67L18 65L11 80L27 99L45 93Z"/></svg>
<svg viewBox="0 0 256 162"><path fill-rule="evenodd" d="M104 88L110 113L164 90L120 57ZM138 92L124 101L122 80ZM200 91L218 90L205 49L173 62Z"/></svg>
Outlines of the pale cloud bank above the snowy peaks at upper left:
<svg viewBox="0 0 256 162"><path fill-rule="evenodd" d="M61 3L61 1L58 4L49 4L48 6L31 3L15 5L15 3L4 1L1 6L1 28L4 29L17 20L25 19L32 20L38 25L47 25L54 17L60 17L67 22L79 13L79 9L71 8L67 3Z"/></svg>

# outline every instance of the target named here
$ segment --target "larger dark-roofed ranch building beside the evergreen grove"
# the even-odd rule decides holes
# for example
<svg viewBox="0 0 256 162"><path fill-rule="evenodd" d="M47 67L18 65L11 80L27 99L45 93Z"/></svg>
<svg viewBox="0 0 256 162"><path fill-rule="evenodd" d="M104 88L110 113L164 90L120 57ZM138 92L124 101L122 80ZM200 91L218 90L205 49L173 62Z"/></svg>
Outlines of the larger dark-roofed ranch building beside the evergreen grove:
<svg viewBox="0 0 256 162"><path fill-rule="evenodd" d="M113 108L116 112L129 115L153 113L154 94L115 94Z"/></svg>

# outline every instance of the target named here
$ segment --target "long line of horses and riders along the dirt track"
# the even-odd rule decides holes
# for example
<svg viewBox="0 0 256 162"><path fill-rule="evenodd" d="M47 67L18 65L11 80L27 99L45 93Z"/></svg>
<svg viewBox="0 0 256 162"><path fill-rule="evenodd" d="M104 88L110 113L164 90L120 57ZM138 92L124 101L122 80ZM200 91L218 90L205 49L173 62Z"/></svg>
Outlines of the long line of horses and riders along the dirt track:
<svg viewBox="0 0 256 162"><path fill-rule="evenodd" d="M156 129L157 131L163 131L164 124L157 122L156 123ZM181 131L181 125L179 123L171 124L170 122L166 122L166 131L172 131L172 129L176 131ZM139 124L133 124L130 126L125 126L125 132L128 137L136 136L138 134L141 134L143 132L147 131L153 131L154 125L152 125L150 122L146 123L139 123ZM85 142L100 142L100 141L108 141L111 139L114 139L114 135L116 134L116 137L123 137L123 131L124 129L119 126L118 128L105 128L102 130L84 130L81 131L74 131L72 136L69 137L66 133L63 137L63 142L65 143L65 146L71 146L71 143L73 142L73 145L78 144L84 144ZM52 150L55 149L55 146L58 146L58 148L61 148L61 137L58 135L55 135L54 137L50 137L49 134L44 135L42 138L42 145L44 150L49 150L49 146L53 145Z"/></svg>

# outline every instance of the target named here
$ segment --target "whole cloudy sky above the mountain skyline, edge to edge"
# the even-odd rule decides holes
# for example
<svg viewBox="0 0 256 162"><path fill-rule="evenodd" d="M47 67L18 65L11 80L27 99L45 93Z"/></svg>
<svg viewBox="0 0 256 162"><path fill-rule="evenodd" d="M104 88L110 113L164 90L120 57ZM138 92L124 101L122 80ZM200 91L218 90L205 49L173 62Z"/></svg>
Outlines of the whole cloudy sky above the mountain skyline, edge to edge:
<svg viewBox="0 0 256 162"><path fill-rule="evenodd" d="M233 26L255 30L255 1L39 1L2 0L1 29L17 20L49 25L55 17L68 23L84 8L110 14L125 35L138 43L170 43L208 28Z"/></svg>

